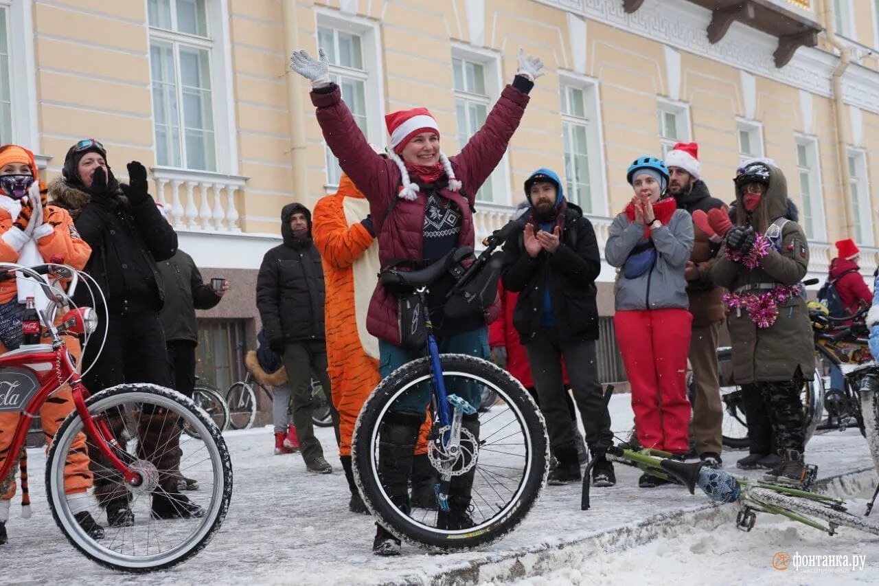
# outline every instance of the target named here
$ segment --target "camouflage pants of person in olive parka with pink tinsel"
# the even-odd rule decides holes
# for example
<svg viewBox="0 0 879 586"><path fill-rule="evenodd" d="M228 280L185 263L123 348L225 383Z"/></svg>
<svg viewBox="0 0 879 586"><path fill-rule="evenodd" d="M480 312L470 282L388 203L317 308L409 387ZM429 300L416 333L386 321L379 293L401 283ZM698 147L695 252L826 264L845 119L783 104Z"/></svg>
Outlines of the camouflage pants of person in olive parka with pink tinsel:
<svg viewBox="0 0 879 586"><path fill-rule="evenodd" d="M762 450L754 450L756 446L753 445L754 442L752 441L752 453L769 453L770 445L778 450L797 450L801 453L803 452L805 420L803 401L800 399L800 391L802 389L803 380L798 378L791 381L742 385L742 392L745 393L745 408L748 413L749 435L752 425L754 427L754 436L762 435L759 433L759 429L762 427L761 423L766 420L768 420L772 429L771 440L766 437L763 442L759 442L766 442L768 444L763 446Z"/></svg>

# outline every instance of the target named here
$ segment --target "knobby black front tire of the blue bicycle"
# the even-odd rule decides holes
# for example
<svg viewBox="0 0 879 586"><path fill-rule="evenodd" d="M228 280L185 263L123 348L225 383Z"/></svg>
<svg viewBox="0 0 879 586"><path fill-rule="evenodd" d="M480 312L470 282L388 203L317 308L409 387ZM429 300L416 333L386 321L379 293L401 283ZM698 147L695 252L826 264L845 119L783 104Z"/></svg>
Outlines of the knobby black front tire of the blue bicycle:
<svg viewBox="0 0 879 586"><path fill-rule="evenodd" d="M506 410L509 410L513 421L518 422L521 426L524 449L521 456L518 454L515 456L523 460L523 471L521 478L516 480L515 488L510 490L512 496L509 498L509 502L505 502L505 506L498 507L497 510L490 509L494 512L487 518L483 517L473 527L461 530L442 530L427 524L425 518L419 521L413 516L404 514L390 501L381 487L378 475L377 446L382 417L403 392L408 391L414 385L430 381L429 358L421 358L404 364L392 372L375 387L360 410L352 441L354 480L367 508L372 512L376 521L396 537L434 551L452 551L485 546L515 529L527 516L534 502L537 501L546 480L549 465L546 424L540 410L534 403L534 399L505 370L488 361L469 355L444 354L439 355L439 358L444 378L462 378L475 384L488 385L498 393L500 399L498 403L504 404L503 411L500 407L495 407L489 412L480 412L478 415L482 429L478 445L483 453L506 453L503 449L492 451L487 447L493 445L487 443L491 436L489 431L492 429L491 424L494 423L495 427L499 425L492 418L498 418L502 413L506 413ZM504 430L505 428L506 426L500 427ZM504 433L507 433L507 430ZM502 436L498 439L506 440L508 437ZM495 441L497 442L497 440ZM506 448L512 444L504 443L503 445ZM512 448L507 449L513 450ZM497 457L492 455L491 458ZM478 471L478 456L476 467L478 478L480 473ZM491 473L489 471L483 474L483 479L486 480L489 487L491 487L489 480ZM512 472L510 473L512 475ZM506 487L503 488L506 489ZM495 492L498 493L499 497L499 492L497 490ZM474 501L476 502L476 496L474 496Z"/></svg>

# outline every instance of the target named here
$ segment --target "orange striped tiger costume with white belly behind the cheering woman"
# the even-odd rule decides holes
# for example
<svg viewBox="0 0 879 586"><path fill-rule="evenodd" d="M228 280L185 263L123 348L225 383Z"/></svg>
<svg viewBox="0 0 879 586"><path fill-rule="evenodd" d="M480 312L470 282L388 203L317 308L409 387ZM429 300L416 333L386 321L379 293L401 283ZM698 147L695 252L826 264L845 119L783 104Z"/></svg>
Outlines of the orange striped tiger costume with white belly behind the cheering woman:
<svg viewBox="0 0 879 586"><path fill-rule="evenodd" d="M327 373L338 411L339 454L351 455L351 438L360 408L381 381L378 340L367 333L367 308L381 268L378 242L361 220L369 202L343 174L338 192L317 201L311 235L323 263L326 292ZM415 452L426 452L429 421Z"/></svg>

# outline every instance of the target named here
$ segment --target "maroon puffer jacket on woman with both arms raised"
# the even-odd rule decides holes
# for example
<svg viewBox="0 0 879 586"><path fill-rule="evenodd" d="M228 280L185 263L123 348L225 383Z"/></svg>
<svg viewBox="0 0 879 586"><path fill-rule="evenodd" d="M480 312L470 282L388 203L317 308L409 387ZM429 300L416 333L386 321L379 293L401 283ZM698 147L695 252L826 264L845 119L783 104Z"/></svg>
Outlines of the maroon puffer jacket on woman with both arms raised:
<svg viewBox="0 0 879 586"><path fill-rule="evenodd" d="M379 259L385 265L391 259L421 260L422 240L427 200L419 194L414 201L400 199L396 202L389 223L384 226L390 201L397 197L401 186L400 170L396 164L376 154L354 121L338 87L331 92L311 92L311 102L317 107L317 122L323 138L338 158L342 170L354 185L366 195L379 235ZM491 108L480 128L461 150L449 157L457 179L463 184L463 193L440 189L438 194L454 201L463 214L459 246L473 246L474 194L485 179L498 166L510 142L512 133L519 127L528 96L507 85L500 99ZM445 179L445 176L443 177ZM376 284L367 312L367 330L380 340L399 345L400 333L396 325L396 299L381 285Z"/></svg>

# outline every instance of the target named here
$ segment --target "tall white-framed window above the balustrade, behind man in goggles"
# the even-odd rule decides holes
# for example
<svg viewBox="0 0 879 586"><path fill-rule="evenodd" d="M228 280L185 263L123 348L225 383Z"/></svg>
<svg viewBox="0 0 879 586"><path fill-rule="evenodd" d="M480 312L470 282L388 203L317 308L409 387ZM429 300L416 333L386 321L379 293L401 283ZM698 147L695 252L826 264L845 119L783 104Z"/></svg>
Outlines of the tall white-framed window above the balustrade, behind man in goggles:
<svg viewBox="0 0 879 586"><path fill-rule="evenodd" d="M216 171L207 0L148 0L156 162Z"/></svg>

